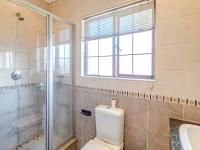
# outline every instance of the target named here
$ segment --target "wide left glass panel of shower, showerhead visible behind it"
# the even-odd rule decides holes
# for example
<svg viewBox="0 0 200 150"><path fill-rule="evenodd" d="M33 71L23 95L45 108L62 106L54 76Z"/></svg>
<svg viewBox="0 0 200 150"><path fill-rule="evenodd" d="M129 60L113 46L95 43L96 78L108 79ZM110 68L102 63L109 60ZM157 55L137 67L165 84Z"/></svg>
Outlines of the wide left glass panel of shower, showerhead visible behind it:
<svg viewBox="0 0 200 150"><path fill-rule="evenodd" d="M44 150L47 18L7 0L0 18L0 149Z"/></svg>

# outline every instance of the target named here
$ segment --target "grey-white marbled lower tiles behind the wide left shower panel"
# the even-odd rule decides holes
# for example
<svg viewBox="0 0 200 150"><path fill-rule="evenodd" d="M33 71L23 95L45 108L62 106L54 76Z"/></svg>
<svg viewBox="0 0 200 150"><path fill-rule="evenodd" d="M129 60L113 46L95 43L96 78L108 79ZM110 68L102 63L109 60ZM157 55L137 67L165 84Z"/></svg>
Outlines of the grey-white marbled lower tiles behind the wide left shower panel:
<svg viewBox="0 0 200 150"><path fill-rule="evenodd" d="M26 128L16 128L13 124L34 114L42 116L44 102L45 96L37 84L0 89L0 150L13 149L41 134L42 120Z"/></svg>

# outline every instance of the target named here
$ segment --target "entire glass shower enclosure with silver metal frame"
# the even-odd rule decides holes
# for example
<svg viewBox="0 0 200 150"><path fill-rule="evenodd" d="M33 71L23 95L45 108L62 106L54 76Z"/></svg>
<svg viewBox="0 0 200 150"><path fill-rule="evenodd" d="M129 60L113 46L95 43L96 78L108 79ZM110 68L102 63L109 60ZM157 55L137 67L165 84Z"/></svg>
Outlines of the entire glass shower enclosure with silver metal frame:
<svg viewBox="0 0 200 150"><path fill-rule="evenodd" d="M0 150L53 150L73 136L74 25L0 2Z"/></svg>

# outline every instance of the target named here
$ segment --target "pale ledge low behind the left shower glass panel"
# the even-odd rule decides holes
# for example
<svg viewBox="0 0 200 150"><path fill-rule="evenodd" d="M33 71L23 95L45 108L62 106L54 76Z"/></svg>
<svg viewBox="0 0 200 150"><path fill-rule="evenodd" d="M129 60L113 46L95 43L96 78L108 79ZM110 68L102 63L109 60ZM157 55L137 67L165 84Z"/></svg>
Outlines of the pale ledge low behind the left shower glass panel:
<svg viewBox="0 0 200 150"><path fill-rule="evenodd" d="M42 113L36 113L19 120L16 120L12 123L12 126L17 130L24 130L26 128L35 126L42 122Z"/></svg>

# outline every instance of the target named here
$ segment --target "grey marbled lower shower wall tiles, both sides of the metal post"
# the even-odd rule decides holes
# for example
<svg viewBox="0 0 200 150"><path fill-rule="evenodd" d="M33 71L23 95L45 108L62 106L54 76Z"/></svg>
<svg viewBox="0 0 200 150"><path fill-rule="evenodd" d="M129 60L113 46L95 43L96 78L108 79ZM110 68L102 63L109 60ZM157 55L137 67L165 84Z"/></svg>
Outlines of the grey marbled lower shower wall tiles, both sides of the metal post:
<svg viewBox="0 0 200 150"><path fill-rule="evenodd" d="M10 150L44 133L45 86L24 84L0 88L0 150ZM68 84L54 84L54 134L62 144L73 136L72 129L72 87ZM16 128L38 115L35 123L25 128ZM20 119L24 121L19 122ZM43 124L42 124L43 121Z"/></svg>

